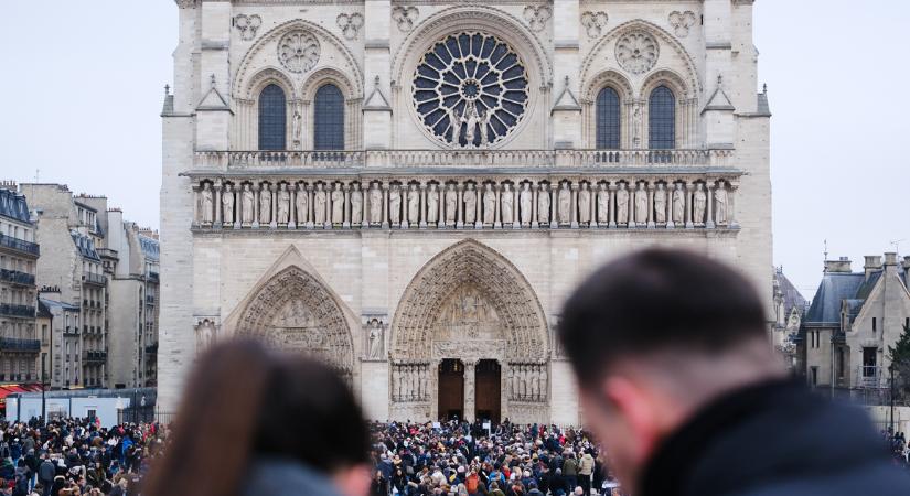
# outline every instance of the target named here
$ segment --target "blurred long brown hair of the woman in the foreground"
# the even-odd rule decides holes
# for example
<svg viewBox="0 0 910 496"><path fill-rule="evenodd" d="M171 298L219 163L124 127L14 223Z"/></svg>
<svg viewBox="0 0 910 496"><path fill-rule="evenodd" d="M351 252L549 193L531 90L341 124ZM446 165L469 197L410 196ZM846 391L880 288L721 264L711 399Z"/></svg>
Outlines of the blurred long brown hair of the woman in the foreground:
<svg viewBox="0 0 910 496"><path fill-rule="evenodd" d="M246 339L199 358L172 432L143 496L235 496L257 456L329 474L366 463L370 448L361 408L334 370Z"/></svg>

